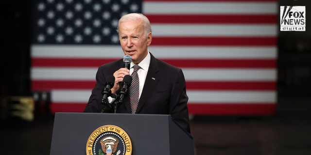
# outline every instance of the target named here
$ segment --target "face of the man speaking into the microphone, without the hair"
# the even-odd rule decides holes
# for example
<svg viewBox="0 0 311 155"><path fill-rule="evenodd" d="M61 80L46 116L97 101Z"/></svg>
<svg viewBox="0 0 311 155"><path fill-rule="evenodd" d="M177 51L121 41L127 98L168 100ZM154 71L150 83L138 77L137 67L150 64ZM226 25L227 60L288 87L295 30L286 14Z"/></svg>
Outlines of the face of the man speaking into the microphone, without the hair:
<svg viewBox="0 0 311 155"><path fill-rule="evenodd" d="M125 55L130 55L135 64L141 62L148 54L147 47L151 43L151 32L144 34L140 19L122 22L119 25L120 44Z"/></svg>

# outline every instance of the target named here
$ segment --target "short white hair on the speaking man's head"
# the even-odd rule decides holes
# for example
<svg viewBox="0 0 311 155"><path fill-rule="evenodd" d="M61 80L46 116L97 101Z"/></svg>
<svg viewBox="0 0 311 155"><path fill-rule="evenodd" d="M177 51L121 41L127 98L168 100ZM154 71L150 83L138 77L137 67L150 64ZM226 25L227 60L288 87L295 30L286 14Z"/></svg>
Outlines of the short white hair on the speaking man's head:
<svg viewBox="0 0 311 155"><path fill-rule="evenodd" d="M137 19L140 19L142 21L141 24L143 25L145 36L148 37L149 32L152 32L150 21L146 16L142 14L137 14L137 13L127 14L127 15L122 16L119 20L117 32L120 33L119 26L121 22L128 22L128 21L133 21Z"/></svg>

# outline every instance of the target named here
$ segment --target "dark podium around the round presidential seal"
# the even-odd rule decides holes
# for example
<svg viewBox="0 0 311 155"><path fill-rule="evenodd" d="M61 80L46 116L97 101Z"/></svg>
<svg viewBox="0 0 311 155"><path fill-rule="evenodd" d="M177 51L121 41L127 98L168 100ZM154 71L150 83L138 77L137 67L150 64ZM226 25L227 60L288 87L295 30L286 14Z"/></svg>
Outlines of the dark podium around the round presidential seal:
<svg viewBox="0 0 311 155"><path fill-rule="evenodd" d="M128 134L132 155L194 155L193 138L171 115L61 112L55 113L50 155L86 155L87 140L103 125Z"/></svg>

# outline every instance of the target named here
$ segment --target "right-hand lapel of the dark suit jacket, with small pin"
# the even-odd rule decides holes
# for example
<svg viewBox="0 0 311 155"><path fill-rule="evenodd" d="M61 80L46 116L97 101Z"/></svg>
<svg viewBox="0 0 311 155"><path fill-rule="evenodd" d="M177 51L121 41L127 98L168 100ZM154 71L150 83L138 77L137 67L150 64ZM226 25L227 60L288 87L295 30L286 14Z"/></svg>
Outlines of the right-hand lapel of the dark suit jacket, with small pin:
<svg viewBox="0 0 311 155"><path fill-rule="evenodd" d="M160 79L160 77L156 74L159 71L156 59L151 53L150 53L150 56L151 56L151 59L150 59L150 64L148 68L148 73L146 76L144 88L142 89L142 93L139 98L139 103L138 103L136 113L138 113L138 111L146 103L148 97L151 95L157 82Z"/></svg>

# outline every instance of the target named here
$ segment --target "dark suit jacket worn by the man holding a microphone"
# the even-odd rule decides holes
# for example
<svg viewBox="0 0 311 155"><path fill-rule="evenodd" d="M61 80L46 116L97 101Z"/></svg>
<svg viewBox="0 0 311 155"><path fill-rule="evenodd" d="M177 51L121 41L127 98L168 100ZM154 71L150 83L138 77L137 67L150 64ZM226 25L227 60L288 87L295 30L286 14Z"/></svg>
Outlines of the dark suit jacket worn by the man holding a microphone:
<svg viewBox="0 0 311 155"><path fill-rule="evenodd" d="M136 113L138 114L169 114L190 133L188 96L184 74L180 68L155 59L150 53L151 60L139 98ZM110 104L102 104L102 90L105 78L124 67L123 60L106 63L98 68L95 88L88 100L84 112L113 112ZM127 95L117 113L131 113L130 99Z"/></svg>

